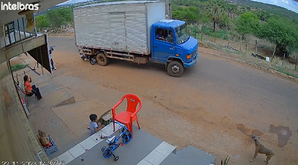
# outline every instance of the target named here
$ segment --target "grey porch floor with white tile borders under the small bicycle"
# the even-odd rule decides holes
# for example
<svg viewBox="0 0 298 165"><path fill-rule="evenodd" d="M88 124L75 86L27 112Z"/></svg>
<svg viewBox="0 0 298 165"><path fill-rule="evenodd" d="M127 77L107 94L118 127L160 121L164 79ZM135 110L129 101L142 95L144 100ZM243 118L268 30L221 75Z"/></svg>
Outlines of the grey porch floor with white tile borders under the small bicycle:
<svg viewBox="0 0 298 165"><path fill-rule="evenodd" d="M99 138L105 136L118 136L117 129L113 131L113 124L109 124L96 134L79 143L72 149L58 156L59 161L65 161L65 164L121 164L121 165L159 165L176 147L148 134L145 131L134 127L134 137L128 144L119 147L115 155L119 156L120 161L114 161L113 156L104 158L101 148L107 146L107 143ZM120 138L119 140L122 141ZM87 149L87 150L86 150ZM81 158L84 161L81 161Z"/></svg>

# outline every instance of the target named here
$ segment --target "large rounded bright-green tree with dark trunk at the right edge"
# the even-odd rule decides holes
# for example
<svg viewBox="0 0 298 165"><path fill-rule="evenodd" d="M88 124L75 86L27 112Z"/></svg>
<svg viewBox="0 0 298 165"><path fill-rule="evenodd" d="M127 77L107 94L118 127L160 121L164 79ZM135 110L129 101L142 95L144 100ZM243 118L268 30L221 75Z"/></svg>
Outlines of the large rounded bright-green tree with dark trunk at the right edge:
<svg viewBox="0 0 298 165"><path fill-rule="evenodd" d="M283 56L283 52L287 48L298 49L298 29L285 18L268 19L266 23L260 26L258 37L275 43L274 50L279 50L278 56Z"/></svg>

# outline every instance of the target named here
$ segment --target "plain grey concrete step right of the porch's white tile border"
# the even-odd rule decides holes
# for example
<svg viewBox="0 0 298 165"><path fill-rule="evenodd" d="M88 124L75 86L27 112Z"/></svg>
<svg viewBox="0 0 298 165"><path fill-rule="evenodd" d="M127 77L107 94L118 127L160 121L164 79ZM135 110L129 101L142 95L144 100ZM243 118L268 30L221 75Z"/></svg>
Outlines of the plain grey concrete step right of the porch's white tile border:
<svg viewBox="0 0 298 165"><path fill-rule="evenodd" d="M209 165L215 163L216 157L193 146L171 153L160 165Z"/></svg>

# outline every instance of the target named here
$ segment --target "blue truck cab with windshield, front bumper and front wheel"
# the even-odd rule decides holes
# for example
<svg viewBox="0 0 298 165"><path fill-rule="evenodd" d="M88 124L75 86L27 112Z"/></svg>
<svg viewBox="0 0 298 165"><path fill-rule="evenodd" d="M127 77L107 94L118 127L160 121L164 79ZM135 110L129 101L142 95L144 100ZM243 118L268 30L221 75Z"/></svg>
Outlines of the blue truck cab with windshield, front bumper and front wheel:
<svg viewBox="0 0 298 165"><path fill-rule="evenodd" d="M181 77L184 68L198 60L198 41L190 37L181 20L161 20L151 26L151 61L166 65L172 77Z"/></svg>

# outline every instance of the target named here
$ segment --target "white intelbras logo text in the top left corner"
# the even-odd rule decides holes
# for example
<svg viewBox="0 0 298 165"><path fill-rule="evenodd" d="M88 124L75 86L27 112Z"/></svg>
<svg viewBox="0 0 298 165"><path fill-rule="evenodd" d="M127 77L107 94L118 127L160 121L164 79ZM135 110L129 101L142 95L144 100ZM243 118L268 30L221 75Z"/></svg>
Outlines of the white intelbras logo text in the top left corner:
<svg viewBox="0 0 298 165"><path fill-rule="evenodd" d="M38 4L22 4L21 2L4 4L1 2L1 10L38 10Z"/></svg>

